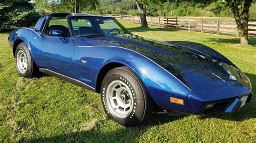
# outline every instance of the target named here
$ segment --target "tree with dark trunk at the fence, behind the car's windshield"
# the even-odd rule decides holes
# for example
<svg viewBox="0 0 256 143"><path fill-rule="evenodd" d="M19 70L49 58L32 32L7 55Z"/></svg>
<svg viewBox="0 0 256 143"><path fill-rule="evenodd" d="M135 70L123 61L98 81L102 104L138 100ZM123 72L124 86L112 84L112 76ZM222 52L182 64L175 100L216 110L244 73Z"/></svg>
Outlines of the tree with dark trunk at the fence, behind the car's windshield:
<svg viewBox="0 0 256 143"><path fill-rule="evenodd" d="M134 0L134 1L136 2L136 5L139 11L140 22L142 22L142 27L148 27L147 19L146 19L146 6L148 4L160 4L165 2L165 0Z"/></svg>

